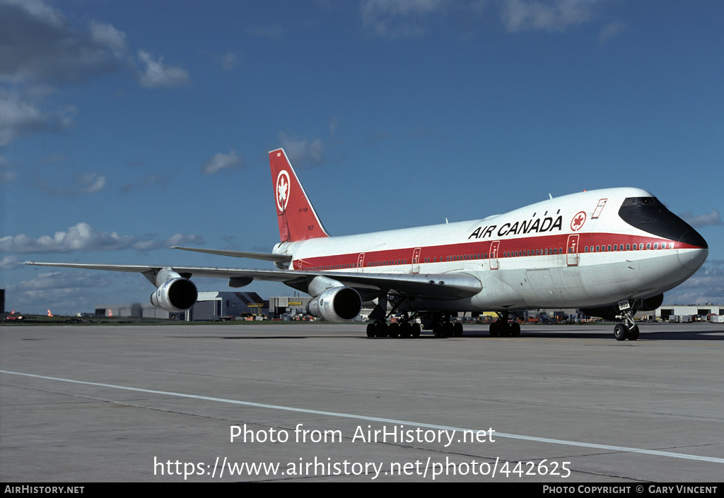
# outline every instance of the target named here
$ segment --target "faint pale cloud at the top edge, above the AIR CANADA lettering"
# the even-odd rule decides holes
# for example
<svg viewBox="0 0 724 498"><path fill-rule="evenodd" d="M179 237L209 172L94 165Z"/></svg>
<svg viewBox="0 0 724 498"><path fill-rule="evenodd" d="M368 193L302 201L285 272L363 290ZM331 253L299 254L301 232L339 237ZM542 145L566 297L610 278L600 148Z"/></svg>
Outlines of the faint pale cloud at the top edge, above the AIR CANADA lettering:
<svg viewBox="0 0 724 498"><path fill-rule="evenodd" d="M525 30L564 31L589 22L600 0L505 0L500 16L510 32Z"/></svg>

